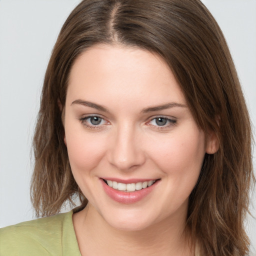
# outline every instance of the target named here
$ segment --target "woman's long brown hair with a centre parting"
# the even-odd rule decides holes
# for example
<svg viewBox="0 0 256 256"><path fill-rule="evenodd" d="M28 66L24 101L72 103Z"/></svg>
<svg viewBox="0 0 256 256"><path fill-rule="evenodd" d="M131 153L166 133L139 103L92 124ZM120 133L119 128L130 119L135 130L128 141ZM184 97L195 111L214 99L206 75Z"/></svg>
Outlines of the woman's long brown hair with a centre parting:
<svg viewBox="0 0 256 256"><path fill-rule="evenodd" d="M246 255L243 220L255 181L250 120L223 34L199 0L83 0L70 13L45 73L33 140L37 215L54 214L82 196L70 170L59 105L73 62L96 43L140 47L169 65L198 127L206 135L215 132L219 143L215 154L205 154L186 229L202 255Z"/></svg>

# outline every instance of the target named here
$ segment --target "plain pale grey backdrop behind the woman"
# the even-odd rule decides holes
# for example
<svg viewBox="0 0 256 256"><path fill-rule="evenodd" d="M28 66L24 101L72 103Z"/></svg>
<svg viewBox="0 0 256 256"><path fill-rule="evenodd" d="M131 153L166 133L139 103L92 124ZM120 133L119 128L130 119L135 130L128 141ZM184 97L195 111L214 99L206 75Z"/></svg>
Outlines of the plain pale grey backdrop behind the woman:
<svg viewBox="0 0 256 256"><path fill-rule="evenodd" d="M78 2L0 0L0 227L34 218L29 197L30 154L40 90L60 27ZM226 37L255 130L256 0L203 3ZM252 198L256 205L255 193ZM256 216L252 205L251 211ZM248 217L247 230L256 247L252 217Z"/></svg>

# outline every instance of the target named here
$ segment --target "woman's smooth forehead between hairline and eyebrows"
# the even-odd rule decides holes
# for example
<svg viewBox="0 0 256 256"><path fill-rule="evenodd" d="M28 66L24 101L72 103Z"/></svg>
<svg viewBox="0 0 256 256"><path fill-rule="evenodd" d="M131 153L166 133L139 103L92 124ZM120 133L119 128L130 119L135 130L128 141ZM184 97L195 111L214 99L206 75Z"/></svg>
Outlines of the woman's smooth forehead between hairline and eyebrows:
<svg viewBox="0 0 256 256"><path fill-rule="evenodd" d="M75 60L67 100L77 97L125 99L130 104L142 99L155 104L185 103L173 73L160 56L140 48L104 44L89 48Z"/></svg>

